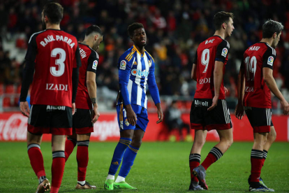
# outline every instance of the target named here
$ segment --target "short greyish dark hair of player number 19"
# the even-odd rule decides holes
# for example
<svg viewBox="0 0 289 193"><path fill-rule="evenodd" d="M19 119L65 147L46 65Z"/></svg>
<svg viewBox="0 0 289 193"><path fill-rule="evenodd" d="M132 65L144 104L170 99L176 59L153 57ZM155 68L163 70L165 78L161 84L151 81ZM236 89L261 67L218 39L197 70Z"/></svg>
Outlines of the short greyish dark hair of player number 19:
<svg viewBox="0 0 289 193"><path fill-rule="evenodd" d="M281 22L267 20L267 22L265 22L265 24L262 26L262 38L271 38L275 32L278 36L283 29L284 27Z"/></svg>

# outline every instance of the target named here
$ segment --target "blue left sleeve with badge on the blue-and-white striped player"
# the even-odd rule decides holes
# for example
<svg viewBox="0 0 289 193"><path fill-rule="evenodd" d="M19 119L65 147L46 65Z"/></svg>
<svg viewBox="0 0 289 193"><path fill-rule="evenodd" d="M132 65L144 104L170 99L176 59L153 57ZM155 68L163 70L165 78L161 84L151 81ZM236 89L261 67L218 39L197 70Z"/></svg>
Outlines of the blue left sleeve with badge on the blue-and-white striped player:
<svg viewBox="0 0 289 193"><path fill-rule="evenodd" d="M121 98L123 99L124 105L131 104L128 95L128 80L131 73L131 62L128 62L124 55L119 58L117 68L119 69L119 89L121 91Z"/></svg>

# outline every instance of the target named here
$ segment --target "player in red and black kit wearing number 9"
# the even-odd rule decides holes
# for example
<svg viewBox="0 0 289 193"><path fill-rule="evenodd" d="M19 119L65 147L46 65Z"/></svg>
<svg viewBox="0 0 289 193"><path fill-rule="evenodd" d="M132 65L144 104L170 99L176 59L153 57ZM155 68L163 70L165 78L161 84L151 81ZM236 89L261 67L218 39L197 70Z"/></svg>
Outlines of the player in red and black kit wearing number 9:
<svg viewBox="0 0 289 193"><path fill-rule="evenodd" d="M232 123L225 101L223 74L228 62L230 45L225 38L232 34L234 15L224 11L214 15L216 31L198 46L191 77L197 81L197 90L191 106L191 129L195 140L189 157L191 184L188 190L207 190L207 168L220 159L232 144ZM205 144L207 131L216 129L220 142L212 148L200 164L200 152Z"/></svg>

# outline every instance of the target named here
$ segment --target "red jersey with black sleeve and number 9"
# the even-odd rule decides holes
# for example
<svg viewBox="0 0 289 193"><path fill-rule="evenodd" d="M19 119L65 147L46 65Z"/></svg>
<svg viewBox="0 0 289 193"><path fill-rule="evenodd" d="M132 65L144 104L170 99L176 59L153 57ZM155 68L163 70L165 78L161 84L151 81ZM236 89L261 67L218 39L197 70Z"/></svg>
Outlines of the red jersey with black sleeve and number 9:
<svg viewBox="0 0 289 193"><path fill-rule="evenodd" d="M230 44L220 36L212 36L206 41L200 43L195 54L195 62L197 68L197 90L195 91L195 99L213 99L214 98L214 66L215 61L224 63L223 74L225 73L225 65L228 62ZM220 96L218 99L225 99L225 91L223 80L221 83Z"/></svg>

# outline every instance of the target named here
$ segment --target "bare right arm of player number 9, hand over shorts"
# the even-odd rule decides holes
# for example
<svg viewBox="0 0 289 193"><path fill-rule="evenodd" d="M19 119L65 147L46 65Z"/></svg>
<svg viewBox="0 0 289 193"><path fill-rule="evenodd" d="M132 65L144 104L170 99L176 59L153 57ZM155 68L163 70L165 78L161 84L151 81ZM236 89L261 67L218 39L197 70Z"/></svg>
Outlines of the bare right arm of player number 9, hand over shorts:
<svg viewBox="0 0 289 193"><path fill-rule="evenodd" d="M208 110L213 110L218 103L218 96L220 96L220 88L223 80L223 62L216 61L214 68L214 88L215 88L215 96L213 98L212 106L208 108Z"/></svg>

